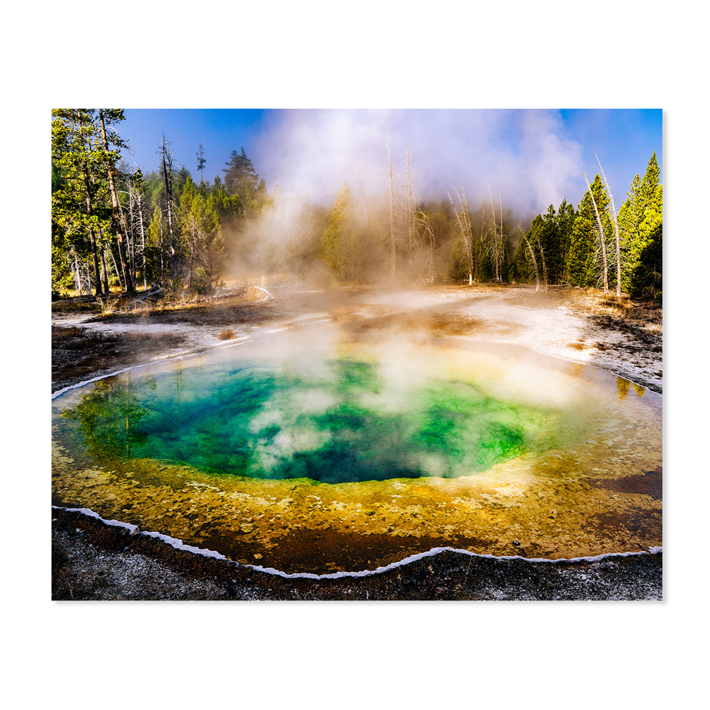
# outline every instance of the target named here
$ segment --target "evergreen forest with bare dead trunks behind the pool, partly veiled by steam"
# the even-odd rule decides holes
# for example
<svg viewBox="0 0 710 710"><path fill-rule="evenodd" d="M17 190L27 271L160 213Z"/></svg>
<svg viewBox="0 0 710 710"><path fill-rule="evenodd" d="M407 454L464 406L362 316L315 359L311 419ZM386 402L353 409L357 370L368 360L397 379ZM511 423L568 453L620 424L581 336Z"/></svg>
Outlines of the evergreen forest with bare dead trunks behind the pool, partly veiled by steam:
<svg viewBox="0 0 710 710"><path fill-rule="evenodd" d="M192 161L197 181L176 167L163 134L143 175L121 155L123 119L116 108L50 110L50 298L151 285L200 295L266 276L320 285L571 285L662 300L655 153L621 204L600 165L577 207L563 200L530 219L490 192L469 204L464 185L422 200L407 146L405 168L395 173L388 163L383 195L368 199L361 185L351 192L344 183L327 209L278 185L268 192L244 148L219 158L224 177L208 184L202 145Z"/></svg>

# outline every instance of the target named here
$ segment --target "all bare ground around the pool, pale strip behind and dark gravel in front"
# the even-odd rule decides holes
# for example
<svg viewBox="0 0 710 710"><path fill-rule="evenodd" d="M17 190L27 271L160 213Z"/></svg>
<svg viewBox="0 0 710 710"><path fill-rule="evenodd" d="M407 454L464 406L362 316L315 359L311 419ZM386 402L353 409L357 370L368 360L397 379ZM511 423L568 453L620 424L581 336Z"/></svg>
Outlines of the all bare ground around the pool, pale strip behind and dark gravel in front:
<svg viewBox="0 0 710 710"><path fill-rule="evenodd" d="M272 290L206 307L97 317L50 311L50 394L136 364L222 346L226 329L340 320L353 332L407 332L519 344L662 393L662 310L596 292L432 287L401 293ZM91 515L50 507L50 599L586 600L662 599L662 552L531 562L441 550L377 574L289 577L176 550Z"/></svg>

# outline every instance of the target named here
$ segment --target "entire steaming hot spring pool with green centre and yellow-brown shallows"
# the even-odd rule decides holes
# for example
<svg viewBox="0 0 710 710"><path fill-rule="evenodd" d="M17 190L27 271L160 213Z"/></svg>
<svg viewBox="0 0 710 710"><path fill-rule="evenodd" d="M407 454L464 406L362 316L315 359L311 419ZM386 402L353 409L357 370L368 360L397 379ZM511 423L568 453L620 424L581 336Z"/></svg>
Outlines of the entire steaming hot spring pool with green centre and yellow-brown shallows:
<svg viewBox="0 0 710 710"><path fill-rule="evenodd" d="M280 332L50 400L50 501L284 572L662 545L662 398L523 348Z"/></svg>

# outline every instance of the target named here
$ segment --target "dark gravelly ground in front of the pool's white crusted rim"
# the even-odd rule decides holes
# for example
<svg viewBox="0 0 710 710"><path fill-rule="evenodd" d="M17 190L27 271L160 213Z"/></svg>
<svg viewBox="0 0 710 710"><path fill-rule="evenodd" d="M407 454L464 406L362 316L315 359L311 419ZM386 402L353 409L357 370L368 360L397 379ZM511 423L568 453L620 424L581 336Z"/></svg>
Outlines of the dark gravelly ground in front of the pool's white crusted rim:
<svg viewBox="0 0 710 710"><path fill-rule="evenodd" d="M663 555L533 562L432 550L376 574L270 574L50 508L52 601L659 601Z"/></svg>

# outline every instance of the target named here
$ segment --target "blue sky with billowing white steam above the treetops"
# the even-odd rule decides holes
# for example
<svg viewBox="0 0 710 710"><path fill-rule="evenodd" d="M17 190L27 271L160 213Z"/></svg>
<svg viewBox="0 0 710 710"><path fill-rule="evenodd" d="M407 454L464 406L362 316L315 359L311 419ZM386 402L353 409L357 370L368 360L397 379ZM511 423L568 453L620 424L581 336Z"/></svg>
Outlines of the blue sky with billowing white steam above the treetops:
<svg viewBox="0 0 710 710"><path fill-rule="evenodd" d="M493 200L519 214L545 212L566 197L577 207L601 166L621 207L636 173L653 151L663 168L662 109L125 109L119 133L129 163L144 173L158 167L165 131L179 165L196 181L197 148L204 179L224 176L231 151L253 161L273 192L301 194L330 206L343 182L369 200L388 184L387 141L393 170L405 173L409 143L414 186L428 199L454 200L461 183L469 203Z"/></svg>

